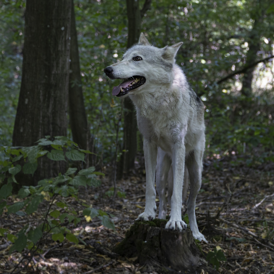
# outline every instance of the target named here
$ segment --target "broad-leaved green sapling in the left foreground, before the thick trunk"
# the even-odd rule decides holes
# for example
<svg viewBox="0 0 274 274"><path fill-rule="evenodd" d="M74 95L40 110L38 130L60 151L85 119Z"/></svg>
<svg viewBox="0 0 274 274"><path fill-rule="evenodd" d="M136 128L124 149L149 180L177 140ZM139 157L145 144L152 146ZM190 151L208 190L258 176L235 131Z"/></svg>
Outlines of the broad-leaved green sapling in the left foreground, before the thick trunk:
<svg viewBox="0 0 274 274"><path fill-rule="evenodd" d="M33 175L38 167L39 157L48 157L52 161L65 160L65 157L72 161L84 161L85 153L90 153L88 150L79 149L77 144L67 137L57 136L53 141L49 139L50 136L45 137L32 147L0 148L0 215L26 216L43 209L40 210L43 212L43 218L37 220L34 225L26 224L17 235L8 233L8 229L0 228L0 236L13 243L10 253L14 250L23 252L27 248L33 256L35 252L41 251L45 240L49 237L59 242L64 241L65 238L76 244L79 240L82 241L66 227L70 223L76 226L81 221L81 216L72 204L61 201L61 198L72 196L79 202L78 187L98 187L101 182L97 176L104 176L103 173L96 172L94 167L78 172L77 168L69 167L65 174L59 173L55 178L42 179L37 186L23 186L18 192L16 202L10 204L12 184L18 184L15 175L21 171ZM52 148L50 152L45 149L49 145ZM86 207L83 215L88 221L98 217L105 227L114 229L114 224L109 218L112 215L85 203L82 203L82 206Z"/></svg>

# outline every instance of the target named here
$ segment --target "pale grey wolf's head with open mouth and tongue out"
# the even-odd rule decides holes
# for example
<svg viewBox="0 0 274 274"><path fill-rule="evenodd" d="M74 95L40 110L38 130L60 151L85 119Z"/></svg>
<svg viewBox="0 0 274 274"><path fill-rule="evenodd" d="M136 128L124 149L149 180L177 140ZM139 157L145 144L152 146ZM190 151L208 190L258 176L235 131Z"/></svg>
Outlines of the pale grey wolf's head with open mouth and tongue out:
<svg viewBox="0 0 274 274"><path fill-rule="evenodd" d="M175 56L183 42L171 47L156 48L141 33L137 45L129 48L121 62L104 69L110 79L125 79L113 87L112 95L124 96L139 93L149 85L172 83Z"/></svg>

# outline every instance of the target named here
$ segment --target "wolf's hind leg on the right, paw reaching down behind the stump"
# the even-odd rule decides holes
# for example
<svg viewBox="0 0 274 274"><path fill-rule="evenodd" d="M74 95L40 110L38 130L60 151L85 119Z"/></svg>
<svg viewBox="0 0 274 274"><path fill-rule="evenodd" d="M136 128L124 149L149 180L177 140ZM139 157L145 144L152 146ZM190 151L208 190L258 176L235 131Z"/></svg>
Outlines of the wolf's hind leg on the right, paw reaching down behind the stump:
<svg viewBox="0 0 274 274"><path fill-rule="evenodd" d="M199 232L195 215L196 198L202 183L202 155L203 151L194 150L192 153L190 153L190 155L188 155L185 161L189 172L190 184L190 194L187 200L187 213L193 237L195 239L198 239L199 241L204 240L205 242L207 242L204 235Z"/></svg>

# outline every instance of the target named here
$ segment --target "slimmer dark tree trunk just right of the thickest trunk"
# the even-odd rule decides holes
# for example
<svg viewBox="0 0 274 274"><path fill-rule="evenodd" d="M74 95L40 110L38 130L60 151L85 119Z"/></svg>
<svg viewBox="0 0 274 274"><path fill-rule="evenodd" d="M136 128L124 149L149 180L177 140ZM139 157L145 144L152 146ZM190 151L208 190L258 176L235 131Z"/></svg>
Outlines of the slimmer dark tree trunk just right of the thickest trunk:
<svg viewBox="0 0 274 274"><path fill-rule="evenodd" d="M89 130L82 92L73 0L71 7L70 38L70 74L68 87L70 127L73 141L76 142L81 149L86 150L88 149Z"/></svg>

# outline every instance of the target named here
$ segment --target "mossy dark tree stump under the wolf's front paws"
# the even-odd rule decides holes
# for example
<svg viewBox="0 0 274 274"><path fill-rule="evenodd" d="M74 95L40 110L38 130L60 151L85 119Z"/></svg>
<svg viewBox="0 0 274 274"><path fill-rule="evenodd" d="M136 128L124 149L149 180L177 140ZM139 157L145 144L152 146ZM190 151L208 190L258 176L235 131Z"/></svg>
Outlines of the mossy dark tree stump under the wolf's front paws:
<svg viewBox="0 0 274 274"><path fill-rule="evenodd" d="M176 270L181 272L217 273L208 266L197 247L192 231L165 229L167 220L135 221L125 239L113 250L127 258L138 257L141 265L153 266L161 273ZM156 267L156 268L155 268Z"/></svg>

